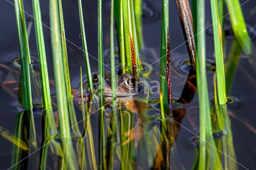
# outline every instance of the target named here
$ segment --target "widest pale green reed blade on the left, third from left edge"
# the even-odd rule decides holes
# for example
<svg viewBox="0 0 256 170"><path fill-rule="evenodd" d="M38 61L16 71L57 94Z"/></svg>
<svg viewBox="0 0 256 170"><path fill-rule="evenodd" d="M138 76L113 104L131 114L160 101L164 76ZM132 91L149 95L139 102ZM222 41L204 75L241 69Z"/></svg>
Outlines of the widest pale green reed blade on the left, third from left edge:
<svg viewBox="0 0 256 170"><path fill-rule="evenodd" d="M56 85L56 96L58 104L58 116L60 122L60 132L62 150L67 169L78 169L74 158L74 148L72 146L70 125L68 119L68 104L66 100L66 86L64 78L64 63L62 58L62 44L60 39L60 20L58 15L57 0L50 0L50 28L52 43L52 58L54 64L54 78Z"/></svg>

